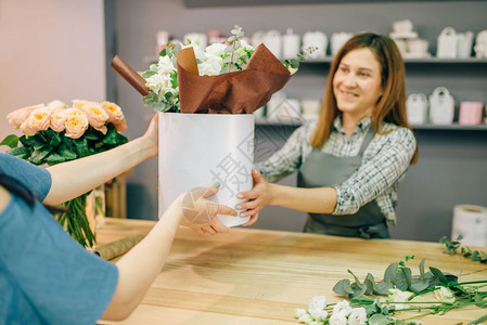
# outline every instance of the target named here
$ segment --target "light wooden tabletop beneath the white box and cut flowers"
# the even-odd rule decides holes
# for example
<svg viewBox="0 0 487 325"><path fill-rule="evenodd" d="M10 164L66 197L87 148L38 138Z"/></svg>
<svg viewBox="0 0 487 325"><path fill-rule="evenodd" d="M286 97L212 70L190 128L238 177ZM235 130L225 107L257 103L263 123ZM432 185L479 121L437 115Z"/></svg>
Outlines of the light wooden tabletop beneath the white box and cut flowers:
<svg viewBox="0 0 487 325"><path fill-rule="evenodd" d="M106 219L99 244L146 234L155 221ZM393 239L359 239L238 227L228 234L201 236L181 227L170 256L142 303L124 322L101 324L296 324L295 308L311 297L337 302L332 288L342 278L360 281L367 273L382 280L389 263L408 262L419 274L425 266L459 275L459 281L487 280L487 265L443 253L444 245ZM487 249L486 249L487 250ZM432 297L433 300L433 297ZM422 317L423 324L476 320L487 309L467 307ZM398 314L397 314L398 316ZM399 316L398 316L399 317Z"/></svg>

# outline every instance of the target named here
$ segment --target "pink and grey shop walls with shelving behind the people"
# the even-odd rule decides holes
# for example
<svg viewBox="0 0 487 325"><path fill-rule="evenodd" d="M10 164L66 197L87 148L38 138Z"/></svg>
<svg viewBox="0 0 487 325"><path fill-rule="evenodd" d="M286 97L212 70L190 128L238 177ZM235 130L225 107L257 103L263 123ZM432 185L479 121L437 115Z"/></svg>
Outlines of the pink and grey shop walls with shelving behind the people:
<svg viewBox="0 0 487 325"><path fill-rule="evenodd" d="M324 34L325 57L302 63L281 90L287 103L316 102L328 81L334 34L370 30L390 35L395 23L409 20L410 31L427 41L431 55L405 58L407 93L431 96L444 87L454 99L454 116L449 125L413 125L420 157L399 185L398 223L392 237L438 242L452 232L456 206L487 207L487 50L484 48L485 56L479 58L474 50L477 34L487 28L486 13L487 1L2 0L0 113L5 116L12 109L52 100L106 99L124 109L128 122L124 134L134 139L144 132L154 112L114 73L112 58L119 55L136 70L146 70L156 60L158 32L180 40L188 34L210 30L228 37L234 25L241 26L249 40L269 31L281 38L298 35L302 40L309 31ZM437 58L446 27L458 35L473 34L467 57ZM483 103L478 123L459 123L462 102ZM255 162L275 152L299 126L267 121L265 114L256 120L260 147L256 147ZM7 119L0 119L0 138L11 131ZM124 217L157 219L156 176L156 159L126 176L120 203ZM296 174L280 183L295 185ZM266 207L252 227L300 232L305 221L306 213Z"/></svg>

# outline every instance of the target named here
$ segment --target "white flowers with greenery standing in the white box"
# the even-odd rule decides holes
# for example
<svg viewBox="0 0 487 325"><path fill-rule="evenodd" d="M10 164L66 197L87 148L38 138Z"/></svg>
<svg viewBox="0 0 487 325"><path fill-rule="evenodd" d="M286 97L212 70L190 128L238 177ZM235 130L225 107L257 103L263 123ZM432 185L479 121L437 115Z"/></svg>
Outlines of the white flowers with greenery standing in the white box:
<svg viewBox="0 0 487 325"><path fill-rule="evenodd" d="M240 26L235 26L231 34L227 43L210 44L206 51L202 51L197 43L189 43L188 47L194 50L200 76L210 77L245 69L255 49L243 39L244 32ZM143 100L144 105L157 112L180 112L176 56L183 48L181 43L169 44L161 51L158 62L141 74L150 90ZM305 52L310 54L315 50L309 48ZM286 60L282 64L286 68L297 69L306 54L299 53L297 58Z"/></svg>

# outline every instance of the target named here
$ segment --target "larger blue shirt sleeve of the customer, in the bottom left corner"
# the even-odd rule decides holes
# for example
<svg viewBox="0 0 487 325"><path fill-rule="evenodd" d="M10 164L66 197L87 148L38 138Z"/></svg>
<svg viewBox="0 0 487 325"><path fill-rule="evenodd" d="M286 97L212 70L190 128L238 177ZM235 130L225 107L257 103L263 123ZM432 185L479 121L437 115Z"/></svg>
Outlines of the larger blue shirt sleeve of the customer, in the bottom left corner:
<svg viewBox="0 0 487 325"><path fill-rule="evenodd" d="M118 283L115 264L77 244L39 202L15 195L0 213L0 300L17 310L2 320L0 307L2 324L95 324Z"/></svg>

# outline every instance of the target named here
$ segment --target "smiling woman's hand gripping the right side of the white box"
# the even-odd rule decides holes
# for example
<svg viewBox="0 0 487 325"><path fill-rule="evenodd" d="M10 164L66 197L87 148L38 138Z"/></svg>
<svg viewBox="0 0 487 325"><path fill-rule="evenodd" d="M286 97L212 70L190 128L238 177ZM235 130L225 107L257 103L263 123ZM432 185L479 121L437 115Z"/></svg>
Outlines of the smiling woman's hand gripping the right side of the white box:
<svg viewBox="0 0 487 325"><path fill-rule="evenodd" d="M239 210L243 210L240 217L251 217L251 220L245 225L252 225L257 222L260 210L272 202L271 184L256 169L252 170L252 178L254 179L254 188L236 195L238 198L248 199L248 202L239 204L236 207Z"/></svg>

